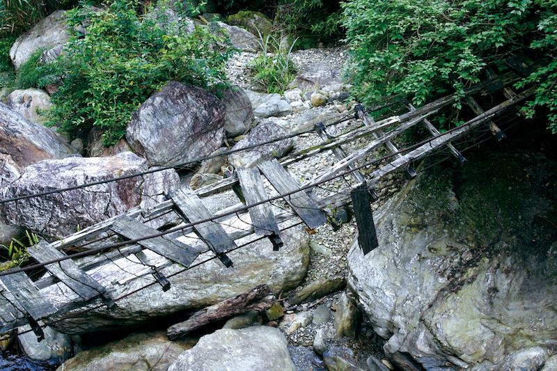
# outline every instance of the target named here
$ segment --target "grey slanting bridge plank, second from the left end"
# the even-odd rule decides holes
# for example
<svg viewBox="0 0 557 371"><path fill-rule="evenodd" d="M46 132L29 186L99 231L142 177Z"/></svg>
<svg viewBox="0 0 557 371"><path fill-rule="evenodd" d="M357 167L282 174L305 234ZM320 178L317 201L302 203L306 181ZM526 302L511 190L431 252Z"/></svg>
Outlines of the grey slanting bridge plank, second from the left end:
<svg viewBox="0 0 557 371"><path fill-rule="evenodd" d="M47 242L41 241L35 246L27 248L27 252L38 262L47 262L64 258L66 255L53 248ZM71 259L45 265L50 274L58 277L65 285L70 287L73 292L79 295L84 301L89 301L95 297L102 297L109 308L114 306L114 301L105 294L107 289L97 283L91 276L77 267Z"/></svg>

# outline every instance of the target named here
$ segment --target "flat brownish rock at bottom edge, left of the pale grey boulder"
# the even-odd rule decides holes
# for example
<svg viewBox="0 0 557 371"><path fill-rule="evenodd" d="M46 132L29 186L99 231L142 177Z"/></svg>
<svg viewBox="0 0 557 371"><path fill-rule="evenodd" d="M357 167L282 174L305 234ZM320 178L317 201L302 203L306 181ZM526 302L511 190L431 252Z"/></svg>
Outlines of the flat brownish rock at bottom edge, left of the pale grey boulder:
<svg viewBox="0 0 557 371"><path fill-rule="evenodd" d="M192 341L173 342L166 333L136 333L101 347L79 352L56 371L166 371Z"/></svg>

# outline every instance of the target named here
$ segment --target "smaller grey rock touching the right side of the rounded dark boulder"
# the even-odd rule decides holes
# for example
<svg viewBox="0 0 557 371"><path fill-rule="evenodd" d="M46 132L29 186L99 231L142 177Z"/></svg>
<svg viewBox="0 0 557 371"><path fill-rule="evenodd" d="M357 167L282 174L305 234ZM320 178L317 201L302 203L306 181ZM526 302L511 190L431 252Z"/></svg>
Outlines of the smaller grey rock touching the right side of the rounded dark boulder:
<svg viewBox="0 0 557 371"><path fill-rule="evenodd" d="M238 86L233 86L224 92L222 100L226 109L226 136L233 138L245 134L253 121L253 108L246 92Z"/></svg>

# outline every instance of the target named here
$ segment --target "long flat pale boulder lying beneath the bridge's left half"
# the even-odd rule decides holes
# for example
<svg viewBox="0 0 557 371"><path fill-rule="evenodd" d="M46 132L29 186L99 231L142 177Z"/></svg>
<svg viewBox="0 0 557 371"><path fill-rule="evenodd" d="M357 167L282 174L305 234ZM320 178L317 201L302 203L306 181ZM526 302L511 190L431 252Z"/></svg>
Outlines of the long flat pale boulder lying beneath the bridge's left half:
<svg viewBox="0 0 557 371"><path fill-rule="evenodd" d="M111 310L104 306L98 308L93 303L94 310L89 306L74 310L72 318L56 322L53 326L58 331L70 334L135 327L162 316L210 306L262 284L269 285L278 296L299 285L306 276L309 263L308 235L302 228L290 228L282 232L281 237L284 246L280 251L273 251L272 244L263 239L228 253L234 267L226 268L218 260L213 260L187 271L182 271L183 267L180 265L162 269L171 283L171 289L166 292L159 285L150 285L150 275L130 281L130 278L134 278L133 274L130 276L130 272L144 271L145 266L127 258L115 260L91 274L102 285L111 287L113 297L123 297L140 287L148 287L119 300L118 306ZM244 237L237 244L245 243L249 238ZM146 253L152 256L148 251ZM198 259L205 260L207 255ZM80 261L82 260L78 260L78 264ZM182 272L178 273L179 271ZM171 276L173 274L175 276ZM115 285L115 282L120 284ZM65 299L62 290L63 288L52 285L41 292L55 301L59 300L56 303L63 303L68 299Z"/></svg>

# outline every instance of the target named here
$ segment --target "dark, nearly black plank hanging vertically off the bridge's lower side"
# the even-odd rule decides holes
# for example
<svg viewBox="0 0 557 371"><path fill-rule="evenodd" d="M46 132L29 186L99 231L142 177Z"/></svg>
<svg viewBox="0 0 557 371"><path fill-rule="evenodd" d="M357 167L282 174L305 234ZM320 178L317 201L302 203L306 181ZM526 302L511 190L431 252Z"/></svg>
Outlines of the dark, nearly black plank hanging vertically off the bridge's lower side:
<svg viewBox="0 0 557 371"><path fill-rule="evenodd" d="M352 207L354 207L354 217L358 227L358 243L363 255L366 255L374 248L379 246L377 242L377 232L373 221L373 211L371 210L371 199L368 194L366 183L361 183L350 193Z"/></svg>

